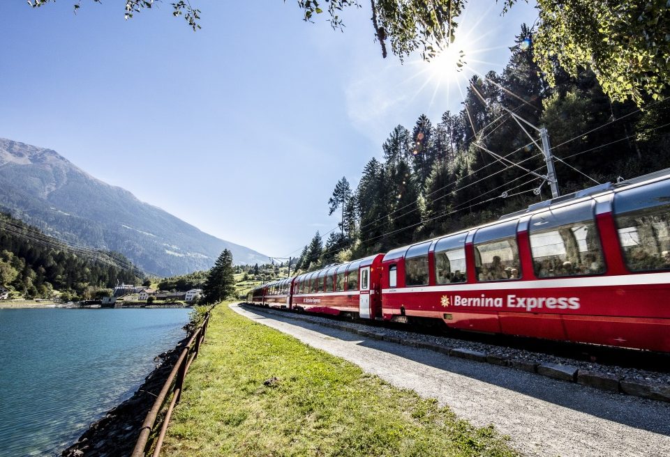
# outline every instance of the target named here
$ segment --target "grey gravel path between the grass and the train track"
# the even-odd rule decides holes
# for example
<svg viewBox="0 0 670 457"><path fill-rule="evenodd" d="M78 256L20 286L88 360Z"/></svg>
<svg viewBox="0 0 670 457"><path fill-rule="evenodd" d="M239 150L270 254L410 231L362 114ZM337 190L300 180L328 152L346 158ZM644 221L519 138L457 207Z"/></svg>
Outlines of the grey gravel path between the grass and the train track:
<svg viewBox="0 0 670 457"><path fill-rule="evenodd" d="M670 457L668 403L231 307L396 387L437 398L472 424L494 424L526 456Z"/></svg>

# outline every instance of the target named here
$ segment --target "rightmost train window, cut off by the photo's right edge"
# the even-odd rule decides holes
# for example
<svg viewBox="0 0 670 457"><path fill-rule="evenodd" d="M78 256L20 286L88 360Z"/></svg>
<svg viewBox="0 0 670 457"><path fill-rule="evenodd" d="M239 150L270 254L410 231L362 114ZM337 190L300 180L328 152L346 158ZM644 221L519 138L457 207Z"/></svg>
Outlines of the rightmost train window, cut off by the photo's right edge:
<svg viewBox="0 0 670 457"><path fill-rule="evenodd" d="M614 212L627 268L670 269L670 181L618 192Z"/></svg>

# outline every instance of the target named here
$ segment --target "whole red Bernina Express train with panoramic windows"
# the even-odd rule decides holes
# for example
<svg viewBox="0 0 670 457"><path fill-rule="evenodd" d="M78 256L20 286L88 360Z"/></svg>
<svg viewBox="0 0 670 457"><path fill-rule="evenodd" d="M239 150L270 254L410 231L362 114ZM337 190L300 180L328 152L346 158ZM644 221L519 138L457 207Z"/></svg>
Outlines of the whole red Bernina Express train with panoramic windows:
<svg viewBox="0 0 670 457"><path fill-rule="evenodd" d="M670 352L670 169L255 288L315 313Z"/></svg>

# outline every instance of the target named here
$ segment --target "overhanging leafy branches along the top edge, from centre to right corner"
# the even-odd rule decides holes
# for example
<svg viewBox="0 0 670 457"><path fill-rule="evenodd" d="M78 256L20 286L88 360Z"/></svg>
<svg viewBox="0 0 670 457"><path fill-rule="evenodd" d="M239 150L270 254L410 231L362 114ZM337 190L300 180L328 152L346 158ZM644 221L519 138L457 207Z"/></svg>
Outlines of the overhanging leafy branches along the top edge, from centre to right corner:
<svg viewBox="0 0 670 457"><path fill-rule="evenodd" d="M305 20L322 13L314 1L298 1ZM503 13L516 0L505 0ZM334 29L343 24L339 12L359 7L358 1L332 0L327 13ZM375 38L386 56L385 40L403 60L416 49L424 59L453 42L457 17L466 0L371 0ZM670 8L666 0L537 0L539 25L535 56L539 68L552 77L555 66L576 77L580 68L593 70L612 100L628 98L641 105L668 91L670 80ZM529 44L533 44L529 42Z"/></svg>

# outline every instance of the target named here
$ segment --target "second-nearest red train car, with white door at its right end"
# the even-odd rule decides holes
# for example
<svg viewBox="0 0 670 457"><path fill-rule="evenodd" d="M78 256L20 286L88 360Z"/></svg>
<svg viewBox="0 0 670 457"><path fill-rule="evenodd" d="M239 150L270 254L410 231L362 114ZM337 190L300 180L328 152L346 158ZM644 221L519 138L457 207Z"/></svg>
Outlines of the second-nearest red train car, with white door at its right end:
<svg viewBox="0 0 670 457"><path fill-rule="evenodd" d="M293 281L294 309L334 316L381 318L382 254L301 274Z"/></svg>

